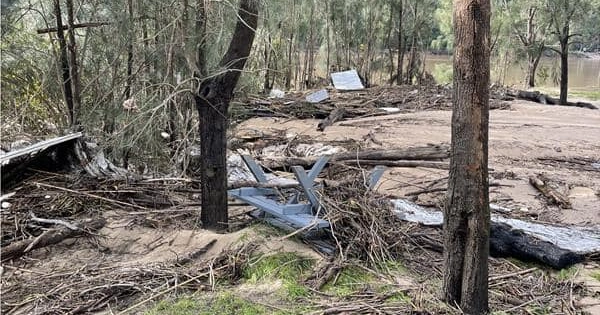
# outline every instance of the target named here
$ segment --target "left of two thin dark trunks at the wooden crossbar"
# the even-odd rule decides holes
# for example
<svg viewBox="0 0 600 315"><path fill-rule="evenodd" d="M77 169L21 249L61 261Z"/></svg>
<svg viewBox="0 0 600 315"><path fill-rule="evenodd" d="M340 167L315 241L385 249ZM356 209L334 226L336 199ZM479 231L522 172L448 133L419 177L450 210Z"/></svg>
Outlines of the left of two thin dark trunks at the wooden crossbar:
<svg viewBox="0 0 600 315"><path fill-rule="evenodd" d="M71 88L71 70L69 67L69 56L67 53L67 41L65 40L64 26L62 24L62 13L60 10L60 1L54 0L54 15L56 15L56 38L58 38L58 48L60 50L60 65L63 79L63 95L67 105L69 115L69 124L74 125L73 114L73 90Z"/></svg>

